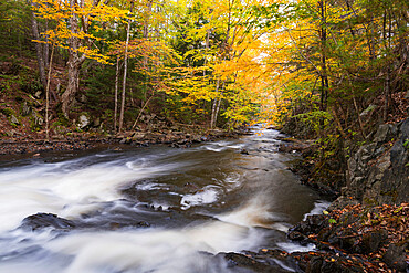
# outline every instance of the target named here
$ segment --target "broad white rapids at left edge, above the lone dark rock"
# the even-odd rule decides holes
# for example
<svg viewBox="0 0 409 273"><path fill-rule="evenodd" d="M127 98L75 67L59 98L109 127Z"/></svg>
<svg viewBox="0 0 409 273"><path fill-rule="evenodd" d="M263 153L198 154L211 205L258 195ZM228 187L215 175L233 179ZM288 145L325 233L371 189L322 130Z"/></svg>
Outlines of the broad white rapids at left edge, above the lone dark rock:
<svg viewBox="0 0 409 273"><path fill-rule="evenodd" d="M71 164L77 162L34 165L0 172L0 231L15 229L23 218L38 212L75 218L95 210L98 203L120 199L117 189L124 185L175 168L175 165L138 168L128 161L73 170Z"/></svg>

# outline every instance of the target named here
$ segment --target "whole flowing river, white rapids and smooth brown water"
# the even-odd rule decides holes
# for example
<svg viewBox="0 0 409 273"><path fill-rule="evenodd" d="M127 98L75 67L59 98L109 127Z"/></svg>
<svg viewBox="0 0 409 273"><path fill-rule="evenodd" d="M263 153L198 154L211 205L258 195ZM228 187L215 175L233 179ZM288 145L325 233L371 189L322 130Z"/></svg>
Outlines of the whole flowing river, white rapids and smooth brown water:
<svg viewBox="0 0 409 273"><path fill-rule="evenodd" d="M294 250L285 231L327 203L287 170L279 132L259 133L0 161L0 272L219 273L211 254ZM21 228L38 212L77 228Z"/></svg>

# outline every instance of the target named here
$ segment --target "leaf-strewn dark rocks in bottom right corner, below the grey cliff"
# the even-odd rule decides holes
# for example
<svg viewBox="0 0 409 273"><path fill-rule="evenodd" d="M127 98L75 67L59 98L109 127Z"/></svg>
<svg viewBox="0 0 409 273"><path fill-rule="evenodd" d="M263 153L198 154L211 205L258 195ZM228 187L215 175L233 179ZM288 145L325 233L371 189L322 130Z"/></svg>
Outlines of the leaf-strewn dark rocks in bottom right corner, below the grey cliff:
<svg viewBox="0 0 409 273"><path fill-rule="evenodd" d="M297 254L305 272L327 272L329 264L334 264L332 272L407 272L409 203L328 210L307 217L287 234L317 248L317 252Z"/></svg>

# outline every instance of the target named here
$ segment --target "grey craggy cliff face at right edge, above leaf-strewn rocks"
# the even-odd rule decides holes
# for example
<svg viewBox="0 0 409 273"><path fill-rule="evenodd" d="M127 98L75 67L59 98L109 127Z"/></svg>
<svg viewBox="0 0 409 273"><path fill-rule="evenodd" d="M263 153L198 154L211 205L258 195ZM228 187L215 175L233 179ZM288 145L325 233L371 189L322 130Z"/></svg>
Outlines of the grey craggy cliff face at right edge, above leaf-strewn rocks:
<svg viewBox="0 0 409 273"><path fill-rule="evenodd" d="M348 160L343 196L365 204L398 204L409 199L409 118L384 124Z"/></svg>

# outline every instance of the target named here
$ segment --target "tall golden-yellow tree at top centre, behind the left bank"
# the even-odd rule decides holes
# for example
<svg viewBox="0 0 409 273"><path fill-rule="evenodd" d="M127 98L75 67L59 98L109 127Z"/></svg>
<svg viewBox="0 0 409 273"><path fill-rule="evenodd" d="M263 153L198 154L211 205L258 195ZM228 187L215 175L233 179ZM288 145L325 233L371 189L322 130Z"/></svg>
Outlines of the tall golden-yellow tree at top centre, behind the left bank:
<svg viewBox="0 0 409 273"><path fill-rule="evenodd" d="M226 119L239 120L240 117L243 122L245 118L242 120L243 116L235 114L249 109L249 102L260 95L259 88L243 81L256 78L255 67L262 65L258 56L262 54L259 46L265 25L260 21L274 23L266 17L268 12L256 12L256 9L275 12L277 7L265 1L235 0L191 1L188 4L176 43L187 67L179 74L175 88L196 111L209 112L211 128L216 127L222 108ZM247 73L255 74L245 76ZM242 80L240 84L238 78ZM244 85L253 92L243 88ZM245 93L248 95L243 96Z"/></svg>

